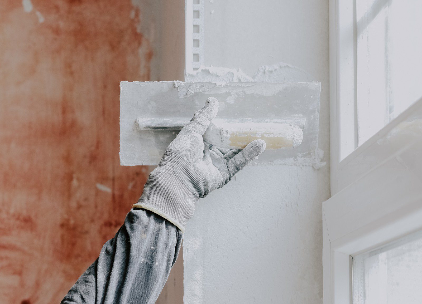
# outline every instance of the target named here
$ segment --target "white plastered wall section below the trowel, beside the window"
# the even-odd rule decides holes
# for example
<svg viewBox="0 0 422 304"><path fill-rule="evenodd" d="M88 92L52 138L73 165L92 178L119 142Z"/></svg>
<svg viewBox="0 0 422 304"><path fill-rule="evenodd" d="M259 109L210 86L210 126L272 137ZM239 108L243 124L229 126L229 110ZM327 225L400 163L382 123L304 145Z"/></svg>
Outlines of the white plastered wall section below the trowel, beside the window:
<svg viewBox="0 0 422 304"><path fill-rule="evenodd" d="M201 200L184 303L322 303L321 188L312 167L249 166Z"/></svg>

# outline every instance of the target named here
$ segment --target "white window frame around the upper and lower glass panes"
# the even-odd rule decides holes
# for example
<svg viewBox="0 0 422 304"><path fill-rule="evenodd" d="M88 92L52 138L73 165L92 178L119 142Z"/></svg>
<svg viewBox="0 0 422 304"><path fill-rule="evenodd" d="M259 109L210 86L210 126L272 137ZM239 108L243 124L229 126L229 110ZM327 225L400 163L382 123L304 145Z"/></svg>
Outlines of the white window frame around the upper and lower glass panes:
<svg viewBox="0 0 422 304"><path fill-rule="evenodd" d="M352 303L352 256L422 230L422 99L357 147L355 16L355 0L329 0L332 197L322 204L324 304Z"/></svg>

